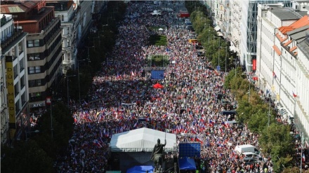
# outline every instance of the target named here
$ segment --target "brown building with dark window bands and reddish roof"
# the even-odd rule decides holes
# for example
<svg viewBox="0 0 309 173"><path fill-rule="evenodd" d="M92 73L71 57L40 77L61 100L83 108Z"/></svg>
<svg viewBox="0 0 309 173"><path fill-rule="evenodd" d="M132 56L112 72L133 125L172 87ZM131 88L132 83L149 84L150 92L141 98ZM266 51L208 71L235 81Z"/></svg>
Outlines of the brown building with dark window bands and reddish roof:
<svg viewBox="0 0 309 173"><path fill-rule="evenodd" d="M46 1L2 4L1 13L13 15L27 35L29 108L44 109L45 99L62 77L61 19Z"/></svg>

